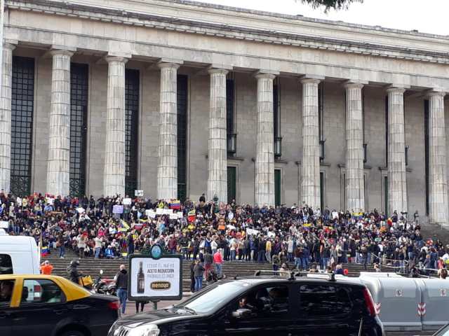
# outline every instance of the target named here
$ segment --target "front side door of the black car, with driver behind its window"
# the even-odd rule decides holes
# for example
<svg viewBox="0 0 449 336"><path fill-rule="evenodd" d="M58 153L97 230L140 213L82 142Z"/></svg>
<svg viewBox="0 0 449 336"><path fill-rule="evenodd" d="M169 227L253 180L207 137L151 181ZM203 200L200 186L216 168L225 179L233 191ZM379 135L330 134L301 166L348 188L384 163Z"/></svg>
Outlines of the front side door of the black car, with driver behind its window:
<svg viewBox="0 0 449 336"><path fill-rule="evenodd" d="M248 314L236 316L239 309ZM234 313L234 314L233 314ZM223 309L217 323L212 325L212 335L264 336L290 335L290 285L267 283L239 295Z"/></svg>

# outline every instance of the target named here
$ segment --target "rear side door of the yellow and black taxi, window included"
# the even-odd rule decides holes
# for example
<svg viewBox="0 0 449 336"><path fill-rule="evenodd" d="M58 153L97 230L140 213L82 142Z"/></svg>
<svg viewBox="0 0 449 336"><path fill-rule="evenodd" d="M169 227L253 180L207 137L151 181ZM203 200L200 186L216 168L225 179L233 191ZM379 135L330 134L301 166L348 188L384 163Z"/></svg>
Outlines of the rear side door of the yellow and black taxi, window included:
<svg viewBox="0 0 449 336"><path fill-rule="evenodd" d="M13 335L48 336L69 316L65 295L49 279L24 279L22 297L13 314Z"/></svg>

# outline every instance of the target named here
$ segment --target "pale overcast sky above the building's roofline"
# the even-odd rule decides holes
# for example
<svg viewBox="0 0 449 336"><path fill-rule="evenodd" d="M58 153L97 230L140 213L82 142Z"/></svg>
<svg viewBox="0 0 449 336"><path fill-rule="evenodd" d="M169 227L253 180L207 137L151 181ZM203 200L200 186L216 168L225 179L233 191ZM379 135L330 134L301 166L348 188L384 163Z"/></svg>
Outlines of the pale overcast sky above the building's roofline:
<svg viewBox="0 0 449 336"><path fill-rule="evenodd" d="M449 0L365 0L348 10L312 9L295 0L198 0L225 6L449 35Z"/></svg>

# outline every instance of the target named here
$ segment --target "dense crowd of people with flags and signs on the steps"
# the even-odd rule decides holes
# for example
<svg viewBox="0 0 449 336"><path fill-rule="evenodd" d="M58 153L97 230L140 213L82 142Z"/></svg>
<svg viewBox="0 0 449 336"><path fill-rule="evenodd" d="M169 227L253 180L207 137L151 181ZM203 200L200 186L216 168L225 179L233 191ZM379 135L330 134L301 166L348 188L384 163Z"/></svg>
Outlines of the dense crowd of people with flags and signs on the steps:
<svg viewBox="0 0 449 336"><path fill-rule="evenodd" d="M445 269L449 245L425 240L419 214L257 207L214 200L156 201L130 197L53 197L0 193L0 217L11 235L29 235L46 251L72 248L79 258L126 258L159 244L194 260L193 290L222 276L222 263L269 262L273 269L326 269L358 262L429 273ZM196 262L199 260L199 262ZM369 266L371 267L371 266ZM341 268L341 267L339 267ZM204 273L204 274L203 274ZM444 273L444 272L443 272Z"/></svg>

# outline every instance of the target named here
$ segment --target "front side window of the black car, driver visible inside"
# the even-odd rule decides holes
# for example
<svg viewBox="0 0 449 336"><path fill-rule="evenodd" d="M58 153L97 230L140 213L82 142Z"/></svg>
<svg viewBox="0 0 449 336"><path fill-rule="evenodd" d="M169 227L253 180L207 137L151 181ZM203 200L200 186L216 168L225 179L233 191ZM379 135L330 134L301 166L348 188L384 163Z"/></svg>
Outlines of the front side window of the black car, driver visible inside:
<svg viewBox="0 0 449 336"><path fill-rule="evenodd" d="M233 302L232 310L249 309L247 318L273 318L288 314L288 287L262 286Z"/></svg>

